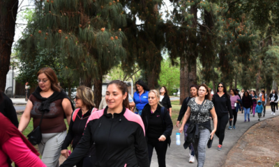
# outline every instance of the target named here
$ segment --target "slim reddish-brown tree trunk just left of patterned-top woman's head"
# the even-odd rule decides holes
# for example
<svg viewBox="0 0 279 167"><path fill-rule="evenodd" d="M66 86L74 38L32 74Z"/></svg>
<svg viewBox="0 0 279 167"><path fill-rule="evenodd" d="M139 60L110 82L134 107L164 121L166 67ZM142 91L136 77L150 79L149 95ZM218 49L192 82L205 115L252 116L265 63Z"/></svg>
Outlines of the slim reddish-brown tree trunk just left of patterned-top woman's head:
<svg viewBox="0 0 279 167"><path fill-rule="evenodd" d="M183 100L188 97L188 63L186 60L186 55L183 54L180 58L180 99L179 104L182 104Z"/></svg>

